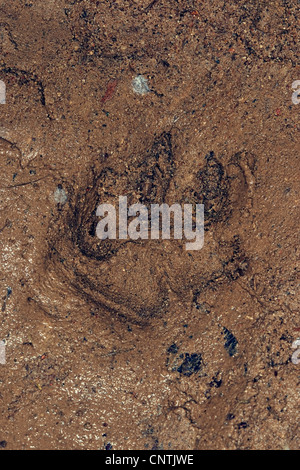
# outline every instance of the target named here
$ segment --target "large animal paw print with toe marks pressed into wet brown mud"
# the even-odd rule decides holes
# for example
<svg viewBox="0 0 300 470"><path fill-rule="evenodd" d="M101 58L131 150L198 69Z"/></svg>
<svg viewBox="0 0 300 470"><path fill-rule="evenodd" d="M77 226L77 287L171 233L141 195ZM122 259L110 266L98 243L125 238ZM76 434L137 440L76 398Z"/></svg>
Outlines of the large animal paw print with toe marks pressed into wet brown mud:
<svg viewBox="0 0 300 470"><path fill-rule="evenodd" d="M128 204L139 202L148 208L154 203L172 204L171 198L181 204L204 204L207 233L226 225L237 211L232 200L238 197L238 210L242 209L247 183L239 155L225 168L210 151L186 186L184 181L176 181L173 147L171 134L163 133L126 167L93 166L80 180L76 176L73 185L67 185L68 201L58 205L50 224L44 259L52 290L56 283L57 293L64 292L63 297L58 294L61 308L68 295L66 288L70 288L70 295L81 296L94 307L129 322L147 324L166 312L170 298L184 294L194 302L205 289L215 289L244 274L248 261L238 236L222 243L208 237L204 249L192 254L183 240L99 240L96 236L97 206L117 206L120 195L127 196ZM232 190L238 195L231 194Z"/></svg>

